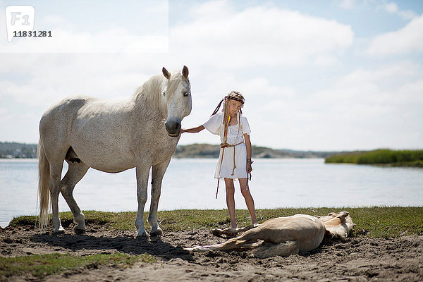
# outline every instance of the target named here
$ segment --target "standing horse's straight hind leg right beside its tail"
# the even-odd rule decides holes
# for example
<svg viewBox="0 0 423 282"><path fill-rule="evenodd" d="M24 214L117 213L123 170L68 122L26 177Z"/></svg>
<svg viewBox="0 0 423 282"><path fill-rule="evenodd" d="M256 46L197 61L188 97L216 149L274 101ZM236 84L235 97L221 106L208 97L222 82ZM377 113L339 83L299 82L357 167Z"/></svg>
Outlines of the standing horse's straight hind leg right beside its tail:
<svg viewBox="0 0 423 282"><path fill-rule="evenodd" d="M59 219L59 193L60 193L60 178L63 167L63 159L61 161L49 161L50 164L50 197L51 197L51 212L54 233L61 233L65 230L61 226Z"/></svg>

